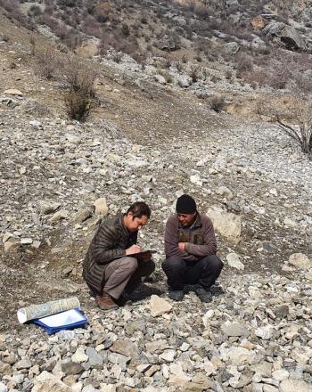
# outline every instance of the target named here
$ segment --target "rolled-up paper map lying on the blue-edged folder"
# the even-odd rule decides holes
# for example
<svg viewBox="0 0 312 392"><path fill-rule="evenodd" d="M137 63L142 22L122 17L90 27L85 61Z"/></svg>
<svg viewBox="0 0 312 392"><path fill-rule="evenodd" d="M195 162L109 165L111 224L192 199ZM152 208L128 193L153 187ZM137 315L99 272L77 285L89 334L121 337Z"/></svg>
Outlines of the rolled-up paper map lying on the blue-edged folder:
<svg viewBox="0 0 312 392"><path fill-rule="evenodd" d="M45 302L45 304L21 307L21 309L17 311L17 318L19 322L23 324L30 320L39 319L47 315L75 308L80 308L80 303L77 297L56 299L54 301Z"/></svg>

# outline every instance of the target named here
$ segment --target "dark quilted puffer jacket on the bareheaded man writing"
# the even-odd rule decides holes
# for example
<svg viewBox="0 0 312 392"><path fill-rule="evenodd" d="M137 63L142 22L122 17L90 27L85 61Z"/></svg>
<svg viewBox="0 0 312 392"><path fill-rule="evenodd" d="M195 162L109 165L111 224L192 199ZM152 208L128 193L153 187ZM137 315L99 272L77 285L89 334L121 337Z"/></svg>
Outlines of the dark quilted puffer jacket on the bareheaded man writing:
<svg viewBox="0 0 312 392"><path fill-rule="evenodd" d="M137 232L130 233L127 230L123 216L120 214L103 221L87 250L82 275L96 294L103 289L106 265L117 257L126 256L126 249L136 243Z"/></svg>

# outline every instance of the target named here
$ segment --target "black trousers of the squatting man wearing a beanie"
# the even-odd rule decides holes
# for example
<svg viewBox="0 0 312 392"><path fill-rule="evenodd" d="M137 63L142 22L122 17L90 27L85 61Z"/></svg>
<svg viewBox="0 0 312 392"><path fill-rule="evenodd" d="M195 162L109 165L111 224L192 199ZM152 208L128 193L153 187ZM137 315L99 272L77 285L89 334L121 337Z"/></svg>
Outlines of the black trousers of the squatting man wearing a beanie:
<svg viewBox="0 0 312 392"><path fill-rule="evenodd" d="M223 263L218 256L206 256L197 261L186 261L182 257L168 257L162 269L173 290L183 290L185 284L201 284L208 290L218 279Z"/></svg>

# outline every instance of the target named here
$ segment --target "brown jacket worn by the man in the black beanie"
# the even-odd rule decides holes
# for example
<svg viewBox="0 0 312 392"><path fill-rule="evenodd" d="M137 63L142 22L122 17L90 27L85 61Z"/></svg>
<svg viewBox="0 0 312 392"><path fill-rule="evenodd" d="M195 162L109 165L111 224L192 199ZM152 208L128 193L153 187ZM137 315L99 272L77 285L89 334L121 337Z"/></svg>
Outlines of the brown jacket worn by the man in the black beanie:
<svg viewBox="0 0 312 392"><path fill-rule="evenodd" d="M185 252L178 249L178 242L185 242ZM183 227L177 215L168 218L165 230L166 257L179 256L193 261L217 253L217 241L213 225L205 214L197 214L189 228Z"/></svg>

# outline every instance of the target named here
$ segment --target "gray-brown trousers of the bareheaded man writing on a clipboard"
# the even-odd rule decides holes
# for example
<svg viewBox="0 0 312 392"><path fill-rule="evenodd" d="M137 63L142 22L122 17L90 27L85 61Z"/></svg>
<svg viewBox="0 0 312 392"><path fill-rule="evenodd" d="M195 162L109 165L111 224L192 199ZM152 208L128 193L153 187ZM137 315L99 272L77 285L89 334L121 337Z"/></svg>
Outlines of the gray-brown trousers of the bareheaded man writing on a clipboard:
<svg viewBox="0 0 312 392"><path fill-rule="evenodd" d="M120 257L111 261L105 268L103 291L118 299L125 290L134 291L143 276L153 273L155 264L150 261L137 261L135 257Z"/></svg>

